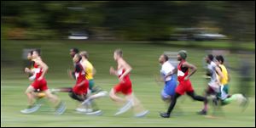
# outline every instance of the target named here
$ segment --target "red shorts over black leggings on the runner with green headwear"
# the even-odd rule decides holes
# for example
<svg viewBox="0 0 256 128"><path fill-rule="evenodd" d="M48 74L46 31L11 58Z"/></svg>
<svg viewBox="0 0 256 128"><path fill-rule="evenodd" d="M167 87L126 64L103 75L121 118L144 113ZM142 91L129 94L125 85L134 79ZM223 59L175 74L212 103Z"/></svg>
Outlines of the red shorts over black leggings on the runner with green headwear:
<svg viewBox="0 0 256 128"><path fill-rule="evenodd" d="M176 87L175 92L177 92L180 95L183 95L184 92L194 92L194 89L193 89L193 87L191 85L191 82L189 80L179 81L179 84Z"/></svg>

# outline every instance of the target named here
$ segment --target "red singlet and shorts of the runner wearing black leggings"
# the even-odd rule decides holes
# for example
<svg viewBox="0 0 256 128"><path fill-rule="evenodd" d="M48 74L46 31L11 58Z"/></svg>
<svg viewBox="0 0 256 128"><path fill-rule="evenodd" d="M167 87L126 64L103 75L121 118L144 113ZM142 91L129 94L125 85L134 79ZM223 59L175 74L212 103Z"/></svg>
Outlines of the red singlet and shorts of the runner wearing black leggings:
<svg viewBox="0 0 256 128"><path fill-rule="evenodd" d="M191 82L189 80L184 81L184 78L189 75L189 69L187 67L182 67L183 63L185 61L181 61L177 65L177 81L179 81L179 84L175 90L180 95L183 95L184 92L193 92L194 89L191 85Z"/></svg>

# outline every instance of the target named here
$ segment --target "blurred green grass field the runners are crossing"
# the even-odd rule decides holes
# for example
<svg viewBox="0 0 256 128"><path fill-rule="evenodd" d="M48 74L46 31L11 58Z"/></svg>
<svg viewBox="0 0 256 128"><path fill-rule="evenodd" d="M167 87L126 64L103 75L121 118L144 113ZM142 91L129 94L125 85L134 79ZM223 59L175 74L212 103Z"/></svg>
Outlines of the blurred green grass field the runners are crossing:
<svg viewBox="0 0 256 128"><path fill-rule="evenodd" d="M21 114L20 109L26 108L26 87L30 84L23 73L24 62L21 59L22 49L40 47L42 56L49 66L46 75L49 88L73 86L74 82L67 76L67 69L73 69L69 56L71 47L79 47L90 53L90 61L96 67L96 85L106 91L118 82L118 79L109 75L109 67L116 66L113 61L113 50L122 48L124 58L131 64L131 81L134 92L142 101L143 106L150 110L144 118L135 118L131 110L119 116L113 114L119 109L109 97L96 100L102 109L101 116L77 114L76 102L67 96L67 93L58 93L67 103L67 111L62 115L55 115L49 103L46 102L34 114ZM166 111L166 104L160 99L163 86L158 86L154 75L159 75L160 66L158 57L164 51L179 51L185 49L189 53L188 61L198 67L198 71L191 77L195 92L202 94L207 81L202 78L202 58L208 49L173 47L172 45L154 45L151 43L122 43L122 42L74 42L74 41L2 41L1 42L1 126L255 126L255 80L251 82L253 96L244 112L237 103L224 106L224 115L218 119L209 119L195 112L201 110L202 103L194 102L188 96L181 97L177 102L170 119L162 119L160 111ZM209 48L212 49L212 48ZM254 46L255 49L255 46ZM231 53L227 56L232 67L237 66L239 59ZM253 54L253 70L255 69L255 54ZM238 92L239 75L230 71L230 92ZM255 72L253 72L255 76ZM212 111L212 109L210 109ZM182 112L182 113L181 113Z"/></svg>

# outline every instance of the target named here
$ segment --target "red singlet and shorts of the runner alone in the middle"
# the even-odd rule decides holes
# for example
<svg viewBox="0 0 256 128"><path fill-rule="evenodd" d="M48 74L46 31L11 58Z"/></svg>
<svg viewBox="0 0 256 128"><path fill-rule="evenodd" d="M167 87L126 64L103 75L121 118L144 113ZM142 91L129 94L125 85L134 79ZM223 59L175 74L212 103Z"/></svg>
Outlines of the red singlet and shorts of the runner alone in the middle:
<svg viewBox="0 0 256 128"><path fill-rule="evenodd" d="M125 70L118 70L119 77L125 73ZM131 80L129 74L125 75L123 81L113 87L114 92L122 92L125 95L131 94Z"/></svg>

